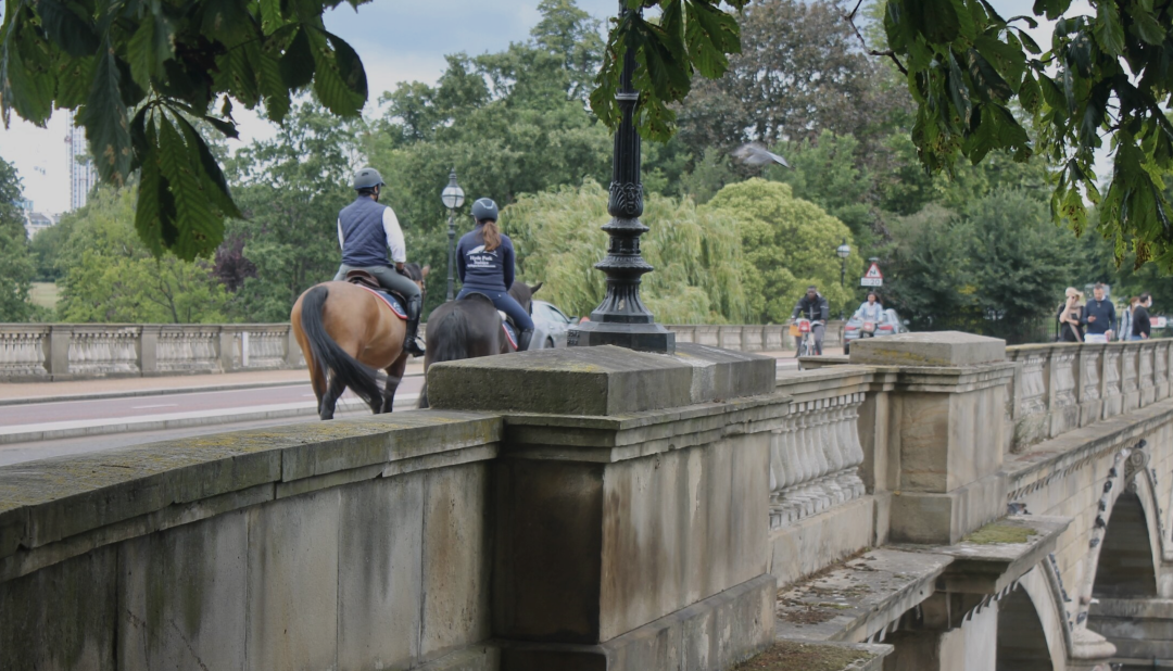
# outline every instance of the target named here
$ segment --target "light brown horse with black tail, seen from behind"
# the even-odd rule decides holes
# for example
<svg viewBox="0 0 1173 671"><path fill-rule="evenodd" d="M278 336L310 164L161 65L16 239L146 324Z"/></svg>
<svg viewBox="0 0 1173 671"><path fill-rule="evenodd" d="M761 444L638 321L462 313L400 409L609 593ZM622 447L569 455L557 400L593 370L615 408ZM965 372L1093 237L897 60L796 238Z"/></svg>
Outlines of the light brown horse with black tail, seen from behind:
<svg viewBox="0 0 1173 671"><path fill-rule="evenodd" d="M423 291L430 266L409 263L405 269ZM290 324L310 367L318 416L333 419L347 387L375 414L392 411L411 355L404 351L405 321L380 298L361 286L324 282L297 299ZM387 372L386 392L379 389L380 370Z"/></svg>

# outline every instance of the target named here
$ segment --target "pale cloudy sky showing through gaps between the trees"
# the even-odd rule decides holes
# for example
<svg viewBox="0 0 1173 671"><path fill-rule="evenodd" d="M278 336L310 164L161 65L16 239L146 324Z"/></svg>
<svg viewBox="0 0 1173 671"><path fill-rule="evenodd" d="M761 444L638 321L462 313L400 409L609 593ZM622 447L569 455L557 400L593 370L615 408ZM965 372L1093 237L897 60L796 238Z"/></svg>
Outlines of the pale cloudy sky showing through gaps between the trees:
<svg viewBox="0 0 1173 671"><path fill-rule="evenodd" d="M1003 16L1030 14L1031 0L994 0ZM1086 11L1086 2L1083 5ZM590 14L605 19L617 0L578 0ZM499 52L527 39L537 23L537 0L374 0L357 13L347 4L326 14L326 28L351 43L366 66L371 97L366 114L377 114L379 96L398 82L434 83L443 73L445 54ZM1050 29L1042 26L1036 40L1046 48ZM271 135L264 120L237 107L242 142ZM13 115L12 127L0 129L0 157L14 163L23 179L25 197L45 212L69 204L65 137L66 116L57 113L48 128L36 128Z"/></svg>

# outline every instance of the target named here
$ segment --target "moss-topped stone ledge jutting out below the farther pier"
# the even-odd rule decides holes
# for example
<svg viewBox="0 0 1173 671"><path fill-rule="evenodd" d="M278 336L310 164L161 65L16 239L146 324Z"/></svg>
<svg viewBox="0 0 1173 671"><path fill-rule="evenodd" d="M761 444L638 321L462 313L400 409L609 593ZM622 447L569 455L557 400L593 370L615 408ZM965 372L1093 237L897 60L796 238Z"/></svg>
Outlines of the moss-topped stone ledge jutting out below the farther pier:
<svg viewBox="0 0 1173 671"><path fill-rule="evenodd" d="M969 595L996 595L1055 550L1071 517L1010 515L982 527L952 545L893 545L952 557L938 588Z"/></svg>

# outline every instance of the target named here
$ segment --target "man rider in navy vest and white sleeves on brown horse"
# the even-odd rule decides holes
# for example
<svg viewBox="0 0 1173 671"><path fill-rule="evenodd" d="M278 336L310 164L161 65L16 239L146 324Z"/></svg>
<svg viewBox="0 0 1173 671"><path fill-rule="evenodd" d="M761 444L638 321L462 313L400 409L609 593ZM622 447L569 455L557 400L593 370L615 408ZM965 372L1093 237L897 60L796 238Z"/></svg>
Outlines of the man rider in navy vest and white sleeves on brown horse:
<svg viewBox="0 0 1173 671"><path fill-rule="evenodd" d="M407 263L407 245L399 228L395 211L379 204L382 176L374 168L362 168L354 174L354 202L338 212L338 245L343 248L343 264L334 282L341 282L352 270L365 270L373 274L384 289L407 299L407 333L404 350L413 357L422 357L423 348L416 341L423 296L420 286L404 272ZM391 259L387 250L391 250ZM391 264L395 267L392 270Z"/></svg>

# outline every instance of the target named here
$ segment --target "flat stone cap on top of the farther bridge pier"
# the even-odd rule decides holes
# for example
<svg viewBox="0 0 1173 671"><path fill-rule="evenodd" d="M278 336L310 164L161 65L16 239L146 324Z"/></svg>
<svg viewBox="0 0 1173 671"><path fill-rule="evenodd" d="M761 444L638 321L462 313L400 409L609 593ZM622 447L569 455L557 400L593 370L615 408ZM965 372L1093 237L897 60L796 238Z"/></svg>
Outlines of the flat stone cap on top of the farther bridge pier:
<svg viewBox="0 0 1173 671"><path fill-rule="evenodd" d="M897 333L857 340L848 358L889 366L979 366L1005 361L1006 341L961 331Z"/></svg>

